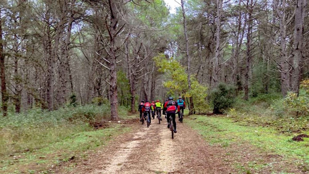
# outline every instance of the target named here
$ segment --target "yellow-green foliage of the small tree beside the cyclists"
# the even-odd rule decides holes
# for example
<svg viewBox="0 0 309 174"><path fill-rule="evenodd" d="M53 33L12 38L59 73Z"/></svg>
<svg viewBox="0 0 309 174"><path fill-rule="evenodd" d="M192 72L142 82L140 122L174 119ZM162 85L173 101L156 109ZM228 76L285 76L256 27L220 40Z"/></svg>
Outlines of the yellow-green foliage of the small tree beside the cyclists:
<svg viewBox="0 0 309 174"><path fill-rule="evenodd" d="M163 54L154 57L156 66L160 72L165 72L171 80L163 85L170 89L171 95L184 95L184 97L193 97L194 107L198 112L206 112L209 109L207 97L207 87L199 84L197 79L191 76L191 90L188 90L188 74L183 66L173 57L166 59Z"/></svg>

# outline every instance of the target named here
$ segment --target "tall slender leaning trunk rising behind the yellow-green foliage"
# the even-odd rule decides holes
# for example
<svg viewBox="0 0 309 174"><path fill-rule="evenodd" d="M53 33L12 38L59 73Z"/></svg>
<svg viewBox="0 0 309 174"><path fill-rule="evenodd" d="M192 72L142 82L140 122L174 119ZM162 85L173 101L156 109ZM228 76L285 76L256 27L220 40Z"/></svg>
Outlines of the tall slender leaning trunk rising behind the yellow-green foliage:
<svg viewBox="0 0 309 174"><path fill-rule="evenodd" d="M190 55L189 55L189 40L188 40L188 34L187 34L187 21L186 21L186 14L184 11L184 0L181 0L181 8L182 8L182 16L184 20L184 36L186 39L186 54L187 54L187 73L188 73L188 90L191 91L191 73L190 73ZM190 96L190 105L189 105L189 115L192 115L194 111L194 105L193 105L193 97Z"/></svg>

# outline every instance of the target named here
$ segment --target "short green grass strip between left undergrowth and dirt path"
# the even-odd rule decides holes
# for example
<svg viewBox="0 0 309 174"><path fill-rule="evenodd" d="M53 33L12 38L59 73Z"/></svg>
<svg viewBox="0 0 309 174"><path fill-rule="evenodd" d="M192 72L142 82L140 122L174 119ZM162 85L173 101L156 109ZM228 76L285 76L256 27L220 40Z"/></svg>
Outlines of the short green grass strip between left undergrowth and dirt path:
<svg viewBox="0 0 309 174"><path fill-rule="evenodd" d="M87 158L87 153L83 152L105 146L113 137L130 131L130 128L122 127L120 124L113 126L72 134L33 152L5 156L0 160L0 173L53 173L53 167L71 159ZM73 167L74 163L71 165Z"/></svg>

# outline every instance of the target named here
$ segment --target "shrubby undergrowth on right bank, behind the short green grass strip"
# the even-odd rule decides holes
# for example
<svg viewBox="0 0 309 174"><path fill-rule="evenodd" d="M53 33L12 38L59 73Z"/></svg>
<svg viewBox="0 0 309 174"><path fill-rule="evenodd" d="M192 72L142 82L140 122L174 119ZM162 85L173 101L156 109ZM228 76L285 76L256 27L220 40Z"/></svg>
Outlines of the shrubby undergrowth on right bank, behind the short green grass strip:
<svg viewBox="0 0 309 174"><path fill-rule="evenodd" d="M286 104L293 102L289 96L282 98L280 93L258 95L248 101L238 98L234 108L229 109L227 115L243 125L274 127L279 132L297 133L309 130L309 116L296 115L293 105ZM303 105L305 109L309 109L307 103Z"/></svg>

